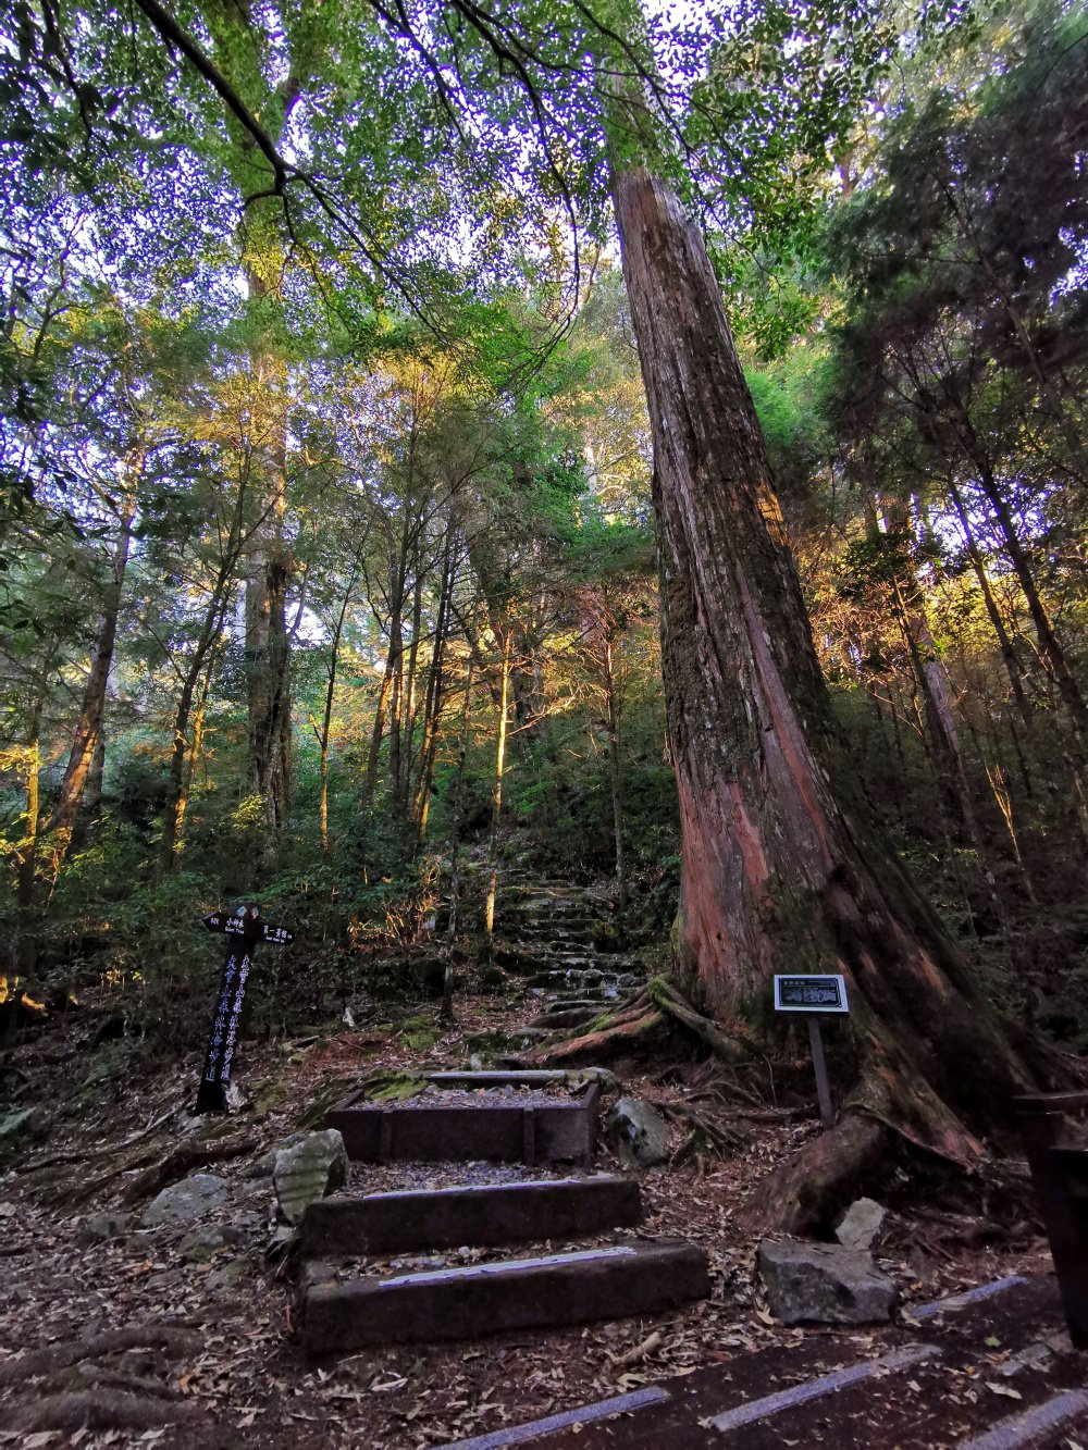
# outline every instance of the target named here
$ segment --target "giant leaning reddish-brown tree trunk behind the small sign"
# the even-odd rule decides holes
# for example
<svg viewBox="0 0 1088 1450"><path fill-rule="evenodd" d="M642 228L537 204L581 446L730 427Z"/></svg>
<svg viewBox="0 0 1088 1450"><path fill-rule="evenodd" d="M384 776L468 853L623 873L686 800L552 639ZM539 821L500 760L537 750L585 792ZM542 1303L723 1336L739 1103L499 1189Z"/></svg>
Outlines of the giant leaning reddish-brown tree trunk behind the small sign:
<svg viewBox="0 0 1088 1450"><path fill-rule="evenodd" d="M844 973L846 1106L973 1161L1030 1076L847 760L702 239L644 170L614 197L654 439L691 989L743 1032L775 972Z"/></svg>

